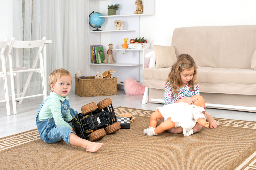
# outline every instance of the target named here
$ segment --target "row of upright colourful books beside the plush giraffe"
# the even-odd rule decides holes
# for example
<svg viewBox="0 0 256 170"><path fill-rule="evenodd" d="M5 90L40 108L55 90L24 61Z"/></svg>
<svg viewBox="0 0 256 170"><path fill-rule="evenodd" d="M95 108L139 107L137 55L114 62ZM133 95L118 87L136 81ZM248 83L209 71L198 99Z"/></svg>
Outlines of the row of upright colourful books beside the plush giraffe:
<svg viewBox="0 0 256 170"><path fill-rule="evenodd" d="M103 63L105 57L102 45L91 45L91 59L94 64Z"/></svg>

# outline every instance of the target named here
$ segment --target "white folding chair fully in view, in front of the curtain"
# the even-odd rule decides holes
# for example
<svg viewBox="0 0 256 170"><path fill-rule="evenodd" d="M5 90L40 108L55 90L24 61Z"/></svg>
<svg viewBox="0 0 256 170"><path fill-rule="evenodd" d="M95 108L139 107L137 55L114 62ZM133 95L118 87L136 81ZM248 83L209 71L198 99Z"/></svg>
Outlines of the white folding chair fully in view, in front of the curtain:
<svg viewBox="0 0 256 170"><path fill-rule="evenodd" d="M7 72L7 75L10 75L10 82L11 82L11 89L12 89L13 114L17 114L16 102L15 102L16 100L19 100L19 104L21 104L24 98L44 96L44 100L45 100L46 97L47 97L47 90L46 90L45 77L44 77L44 65L43 65L43 58L42 58L42 53L41 53L42 48L43 48L44 43L45 43L45 40L46 40L46 37L43 37L42 40L37 40L37 41L17 41L13 37L10 41L10 45L9 45L9 48L8 48L8 51L7 51L7 57L9 59L9 68L6 69L6 72ZM34 63L33 63L31 68L21 67L21 66L16 66L16 67L12 66L12 56L10 55L10 52L11 52L12 48L35 48L35 47L39 47L39 48L38 48ZM40 67L35 68L36 64L37 64L37 61L38 61L38 58L39 58L39 62L40 62ZM15 73L20 73L20 72L29 72L29 75L28 75L28 79L26 81L26 84L23 88L22 93L15 94L15 91L14 91L14 89L15 89L14 88L14 75L15 75ZM42 94L37 94L37 95L25 96L25 93L27 91L27 88L28 88L28 85L29 85L29 82L30 82L30 79L32 77L33 72L41 73L43 93ZM19 81L17 81L17 84L19 84ZM15 96L18 96L18 95L21 95L21 96L20 97L15 97Z"/></svg>

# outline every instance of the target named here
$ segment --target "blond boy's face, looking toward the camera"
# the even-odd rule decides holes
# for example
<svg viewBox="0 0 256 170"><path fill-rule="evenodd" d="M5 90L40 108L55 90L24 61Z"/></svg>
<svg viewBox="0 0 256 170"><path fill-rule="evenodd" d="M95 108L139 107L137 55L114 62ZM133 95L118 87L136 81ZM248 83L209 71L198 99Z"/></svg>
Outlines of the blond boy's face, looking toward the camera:
<svg viewBox="0 0 256 170"><path fill-rule="evenodd" d="M55 85L51 84L51 90L61 97L65 97L69 94L71 88L71 77L69 75L63 75L60 79L57 79Z"/></svg>

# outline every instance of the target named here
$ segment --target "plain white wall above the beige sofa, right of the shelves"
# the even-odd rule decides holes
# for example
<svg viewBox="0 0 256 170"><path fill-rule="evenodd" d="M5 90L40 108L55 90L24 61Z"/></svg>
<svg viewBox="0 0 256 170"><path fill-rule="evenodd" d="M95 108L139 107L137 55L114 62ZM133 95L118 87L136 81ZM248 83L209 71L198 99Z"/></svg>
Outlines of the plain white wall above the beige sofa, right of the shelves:
<svg viewBox="0 0 256 170"><path fill-rule="evenodd" d="M152 45L167 46L179 27L255 25L255 9L255 0L155 0L154 16L140 19L140 36Z"/></svg>

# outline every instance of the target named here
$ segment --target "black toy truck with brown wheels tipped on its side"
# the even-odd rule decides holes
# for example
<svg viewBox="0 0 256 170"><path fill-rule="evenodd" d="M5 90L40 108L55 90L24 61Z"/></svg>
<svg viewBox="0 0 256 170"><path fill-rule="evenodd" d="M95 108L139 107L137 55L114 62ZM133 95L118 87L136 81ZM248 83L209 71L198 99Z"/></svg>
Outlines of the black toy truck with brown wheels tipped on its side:
<svg viewBox="0 0 256 170"><path fill-rule="evenodd" d="M110 98L100 101L97 105L95 102L86 104L81 110L82 113L76 114L76 118L71 120L80 138L96 141L103 138L106 133L111 134L121 128L116 121Z"/></svg>

